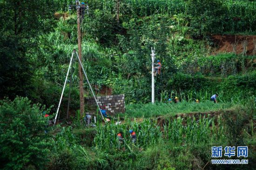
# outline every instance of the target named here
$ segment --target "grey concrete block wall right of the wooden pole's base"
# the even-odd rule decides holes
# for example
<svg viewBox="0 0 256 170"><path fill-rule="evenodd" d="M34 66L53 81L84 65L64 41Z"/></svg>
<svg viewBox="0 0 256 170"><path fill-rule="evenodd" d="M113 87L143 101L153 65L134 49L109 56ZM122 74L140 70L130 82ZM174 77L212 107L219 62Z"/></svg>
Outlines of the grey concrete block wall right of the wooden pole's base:
<svg viewBox="0 0 256 170"><path fill-rule="evenodd" d="M96 99L99 106L106 106L107 114L109 115L125 112L124 94L97 96ZM85 98L85 103L87 103L88 105L93 105L95 107L97 106L93 97Z"/></svg>

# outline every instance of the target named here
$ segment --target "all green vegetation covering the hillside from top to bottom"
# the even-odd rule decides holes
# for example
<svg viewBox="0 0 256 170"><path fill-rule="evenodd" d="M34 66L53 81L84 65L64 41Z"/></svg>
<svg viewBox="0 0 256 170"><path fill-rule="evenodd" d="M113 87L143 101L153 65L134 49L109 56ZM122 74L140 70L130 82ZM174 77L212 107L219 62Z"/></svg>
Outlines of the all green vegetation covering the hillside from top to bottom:
<svg viewBox="0 0 256 170"><path fill-rule="evenodd" d="M216 52L213 35L255 35L256 2L87 2L89 14L81 22L83 65L96 94L107 93L104 89L125 94L126 113L105 125L97 122L96 128L85 128L71 116L67 124L72 121L72 126L66 126L67 85L58 118L63 127L51 131L43 112L56 111L77 49L76 11L67 12L74 0L0 0L0 169L225 170L209 163L211 146L232 144L249 147L249 164L229 168L253 169L256 56L247 56L243 45L241 54L236 49ZM255 55L256 44L250 43ZM151 47L162 63L155 76L156 105L147 104ZM79 115L77 60L72 70L69 106L74 116ZM84 96L89 96L84 83ZM209 101L216 93L218 104ZM168 103L175 97L180 103ZM216 115L175 118L195 111ZM138 135L135 145L129 129ZM116 137L120 131L124 149Z"/></svg>

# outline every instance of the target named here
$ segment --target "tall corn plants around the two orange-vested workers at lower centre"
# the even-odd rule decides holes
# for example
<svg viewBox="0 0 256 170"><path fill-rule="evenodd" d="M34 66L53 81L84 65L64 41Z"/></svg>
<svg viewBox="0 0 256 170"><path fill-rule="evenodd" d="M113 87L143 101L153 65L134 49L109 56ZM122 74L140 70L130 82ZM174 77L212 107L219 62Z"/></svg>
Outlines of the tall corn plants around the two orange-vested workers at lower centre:
<svg viewBox="0 0 256 170"><path fill-rule="evenodd" d="M97 125L97 134L94 138L95 148L106 150L118 148L119 140L117 134L122 131L124 137L124 148L134 147L129 137L129 129L136 132L137 142L135 147L145 147L146 145L156 144L158 138L161 137L160 127L157 126L156 121L149 119L142 122L136 122L136 119L132 122L130 119L125 120L125 124L116 125L114 122L106 125Z"/></svg>

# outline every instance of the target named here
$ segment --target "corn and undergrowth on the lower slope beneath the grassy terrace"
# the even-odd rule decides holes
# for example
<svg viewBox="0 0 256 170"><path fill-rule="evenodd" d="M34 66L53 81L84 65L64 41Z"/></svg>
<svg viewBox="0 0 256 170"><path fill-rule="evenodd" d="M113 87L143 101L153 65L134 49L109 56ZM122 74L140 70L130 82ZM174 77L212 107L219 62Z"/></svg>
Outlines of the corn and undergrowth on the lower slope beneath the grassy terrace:
<svg viewBox="0 0 256 170"><path fill-rule="evenodd" d="M202 104L193 105L203 107ZM141 105L135 107L140 108ZM176 104L176 107L184 108L184 104ZM153 108L158 110L163 107L151 105L149 109ZM250 126L252 122L249 126L246 123L252 110L239 106L218 113L213 117L210 114L208 117L195 114L183 118L164 115L157 120L135 118L132 121L125 118L117 125L113 121L105 125L97 124L97 128L91 129L81 126L63 128L55 139L59 153L54 154L54 163L49 168L183 170L206 166L207 169L224 170L225 165L207 164L211 159L211 146L231 144L252 148L249 150L248 165L230 165L231 168L253 169L256 160L253 153L255 135ZM136 131L135 145L131 143L129 129ZM118 142L119 132L124 137L122 144ZM94 141L91 141L92 138Z"/></svg>

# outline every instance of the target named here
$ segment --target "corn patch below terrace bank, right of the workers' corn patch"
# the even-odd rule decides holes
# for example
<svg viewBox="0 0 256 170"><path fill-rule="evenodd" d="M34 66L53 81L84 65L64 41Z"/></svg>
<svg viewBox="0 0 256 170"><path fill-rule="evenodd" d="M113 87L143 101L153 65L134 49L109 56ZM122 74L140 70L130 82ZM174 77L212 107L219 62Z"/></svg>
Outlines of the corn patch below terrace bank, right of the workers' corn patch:
<svg viewBox="0 0 256 170"><path fill-rule="evenodd" d="M176 144L225 140L224 127L220 118L218 118L218 126L216 126L214 118L200 117L196 120L195 117L188 117L187 121L185 121L179 117L174 120L169 119L168 124L164 124L163 129L163 136Z"/></svg>

